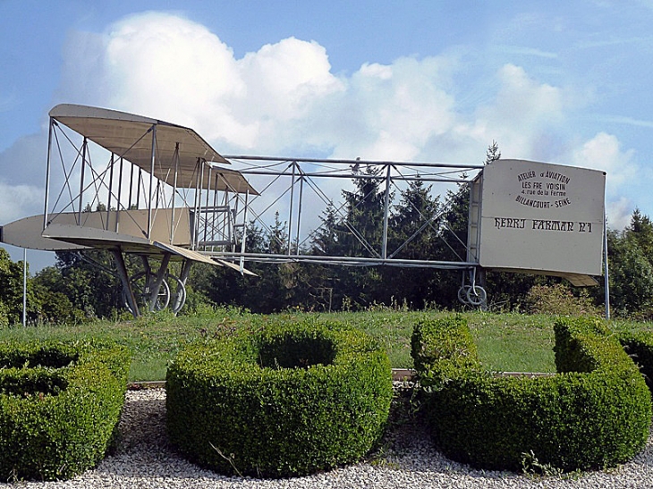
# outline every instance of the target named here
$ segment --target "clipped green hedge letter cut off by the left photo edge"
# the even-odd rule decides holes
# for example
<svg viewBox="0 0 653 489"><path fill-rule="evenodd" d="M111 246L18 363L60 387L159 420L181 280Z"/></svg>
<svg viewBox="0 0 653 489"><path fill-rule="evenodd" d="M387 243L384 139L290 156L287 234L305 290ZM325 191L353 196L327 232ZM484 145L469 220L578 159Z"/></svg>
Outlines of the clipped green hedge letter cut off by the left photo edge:
<svg viewBox="0 0 653 489"><path fill-rule="evenodd" d="M131 357L89 341L0 345L0 480L95 467L123 409Z"/></svg>

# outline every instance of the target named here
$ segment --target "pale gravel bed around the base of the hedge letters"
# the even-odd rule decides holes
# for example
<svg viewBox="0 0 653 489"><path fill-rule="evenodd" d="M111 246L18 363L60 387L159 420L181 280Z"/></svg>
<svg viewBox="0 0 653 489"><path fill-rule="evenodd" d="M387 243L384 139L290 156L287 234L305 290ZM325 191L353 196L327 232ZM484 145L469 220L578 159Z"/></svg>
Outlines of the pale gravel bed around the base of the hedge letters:
<svg viewBox="0 0 653 489"><path fill-rule="evenodd" d="M98 468L64 482L18 482L29 488L649 488L653 487L653 439L619 468L565 476L528 476L482 471L446 459L435 450L419 420L397 426L381 449L360 464L314 476L253 479L220 476L198 468L169 447L165 434L165 390L127 392L120 421L122 439ZM0 485L2 486L2 485Z"/></svg>

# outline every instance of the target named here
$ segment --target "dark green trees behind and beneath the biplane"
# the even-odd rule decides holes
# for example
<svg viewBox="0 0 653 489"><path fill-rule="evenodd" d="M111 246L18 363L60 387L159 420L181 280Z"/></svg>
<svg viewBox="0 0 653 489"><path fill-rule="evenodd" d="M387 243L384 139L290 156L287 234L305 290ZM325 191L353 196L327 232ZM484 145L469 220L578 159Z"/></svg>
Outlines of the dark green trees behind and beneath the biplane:
<svg viewBox="0 0 653 489"><path fill-rule="evenodd" d="M500 158L496 142L485 163ZM342 205L330 204L321 225L310 234L302 254L323 257L375 257L384 239L386 189L381 169L357 169L353 190L342 191ZM466 257L469 191L466 184L448 190L443 199L420 179L390 193L387 249L395 257L463 261ZM253 253L284 253L289 245L286 223L276 215L263 229L250 223L246 249ZM623 230L608 230L610 297L614 315L653 318L653 223L639 210ZM30 323L81 322L95 317L128 316L113 258L102 250L57 252L55 266L29 277L27 316ZM140 266L128 260L131 273ZM258 277L242 276L225 267L197 264L187 284L185 311L202 305L231 305L252 312L289 309L308 311L360 310L377 307L459 309L460 271L395 266L342 266L314 263L247 263ZM487 274L488 306L493 310L539 312L543 304L569 304L600 310L603 277L598 287L577 289L562 279L532 274ZM21 322L22 264L0 249L0 325ZM549 306L550 307L550 306ZM546 311L542 311L546 312Z"/></svg>

